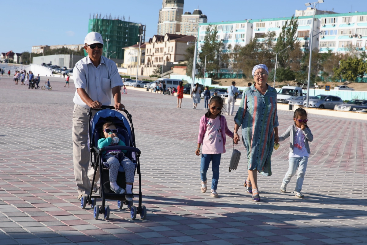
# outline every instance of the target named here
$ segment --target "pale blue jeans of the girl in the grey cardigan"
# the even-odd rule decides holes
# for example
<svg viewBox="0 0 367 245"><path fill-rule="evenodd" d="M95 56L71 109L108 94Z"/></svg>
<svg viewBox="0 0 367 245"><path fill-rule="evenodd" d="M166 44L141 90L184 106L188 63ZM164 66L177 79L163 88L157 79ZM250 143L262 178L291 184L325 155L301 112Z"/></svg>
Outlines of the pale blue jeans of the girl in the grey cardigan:
<svg viewBox="0 0 367 245"><path fill-rule="evenodd" d="M291 178L296 173L298 167L297 182L295 188L296 192L301 192L302 190L302 184L303 180L305 179L307 162L308 162L308 156L289 158L289 168L288 172L286 173L286 176L283 179L283 183L288 184L291 181Z"/></svg>

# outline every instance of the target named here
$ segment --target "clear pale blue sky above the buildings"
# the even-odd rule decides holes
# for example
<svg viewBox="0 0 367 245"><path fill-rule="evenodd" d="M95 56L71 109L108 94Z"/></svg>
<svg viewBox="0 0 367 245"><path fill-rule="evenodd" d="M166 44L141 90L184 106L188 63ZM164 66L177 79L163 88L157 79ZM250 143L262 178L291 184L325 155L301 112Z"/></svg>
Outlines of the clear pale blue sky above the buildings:
<svg viewBox="0 0 367 245"><path fill-rule="evenodd" d="M316 0L315 0L316 1ZM305 9L306 0L185 0L184 11L199 6L208 22L292 16ZM2 1L0 52L30 51L34 45L84 42L90 14L125 15L126 20L146 25L146 38L157 32L161 0L19 0ZM320 10L367 11L367 0L325 0Z"/></svg>

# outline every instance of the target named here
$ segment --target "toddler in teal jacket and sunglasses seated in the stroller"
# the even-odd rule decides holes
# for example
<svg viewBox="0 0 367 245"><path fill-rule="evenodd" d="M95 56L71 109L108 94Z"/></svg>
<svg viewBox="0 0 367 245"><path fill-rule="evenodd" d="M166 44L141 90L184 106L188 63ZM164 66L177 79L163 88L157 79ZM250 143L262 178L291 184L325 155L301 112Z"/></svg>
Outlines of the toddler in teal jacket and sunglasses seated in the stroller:
<svg viewBox="0 0 367 245"><path fill-rule="evenodd" d="M98 140L98 148L106 147L109 145L125 145L125 143L119 138L117 138L117 129L116 126L113 125L112 122L106 122L103 125L102 138ZM124 167L125 176L126 176L126 193L132 194L131 188L134 183L134 172L135 166L134 163L130 161L126 156L120 161L116 158L116 155L111 154L112 152L121 152L120 150L112 150L102 152L103 161L109 163L110 169L110 186L111 190L118 194L124 194L125 190L116 183L117 173L119 172L120 165ZM126 153L127 151L122 151ZM126 195L127 201L132 201L132 195Z"/></svg>

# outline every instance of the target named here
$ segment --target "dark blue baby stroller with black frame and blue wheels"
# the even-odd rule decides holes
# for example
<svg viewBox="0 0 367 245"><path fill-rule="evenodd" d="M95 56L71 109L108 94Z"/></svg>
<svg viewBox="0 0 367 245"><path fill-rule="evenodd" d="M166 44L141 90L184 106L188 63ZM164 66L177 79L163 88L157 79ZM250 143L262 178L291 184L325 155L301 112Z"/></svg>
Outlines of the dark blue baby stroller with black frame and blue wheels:
<svg viewBox="0 0 367 245"><path fill-rule="evenodd" d="M127 205L127 208L130 209L130 216L132 220L135 220L137 214L140 214L141 219L146 218L146 207L142 206L142 193L141 193L141 174L140 174L140 163L139 156L140 150L135 148L135 134L134 134L134 126L132 125L132 116L128 111L124 110L127 115L127 118L130 120L130 125L127 119L118 111L114 111L115 109L112 106L102 106L101 109L92 118L92 109L89 110L89 129L88 129L88 146L91 154L91 166L94 168L94 175L92 181L92 187L89 195L83 195L81 197L80 205L81 208L85 209L86 205L91 205L93 209L94 219L98 219L99 214L104 215L104 219L108 220L110 215L110 208L108 205L105 205L106 199L116 200L117 207L119 209L123 208L123 205ZM124 141L126 146L114 145L103 147L101 149L98 148L98 140L100 138L100 134L102 132L103 124L108 122L113 122L118 130L117 136L120 140ZM139 196L138 207L133 205L133 202L128 202L125 198L126 194L117 194L110 189L110 181L109 181L109 169L107 163L103 162L102 152L108 150L127 150L125 156L130 158L130 160L135 164L135 171L138 172L139 175L139 194L132 194L133 196ZM92 195L92 190L96 181L96 173L99 168L99 196ZM125 172L124 168L120 166L119 173L117 174L117 184L121 188L126 188L125 182ZM131 194L129 194L131 195ZM102 205L99 207L97 205L97 198L102 198Z"/></svg>

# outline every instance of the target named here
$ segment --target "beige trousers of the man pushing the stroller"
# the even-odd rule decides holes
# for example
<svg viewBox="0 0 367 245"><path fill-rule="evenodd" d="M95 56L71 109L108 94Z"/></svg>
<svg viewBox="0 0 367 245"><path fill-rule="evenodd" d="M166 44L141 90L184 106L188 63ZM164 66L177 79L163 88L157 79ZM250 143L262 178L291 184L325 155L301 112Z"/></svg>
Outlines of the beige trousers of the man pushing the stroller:
<svg viewBox="0 0 367 245"><path fill-rule="evenodd" d="M78 194L88 194L91 190L94 169L90 166L90 152L88 149L88 112L89 109L74 105L73 112L73 158L74 176L78 187ZM92 110L92 116L97 111ZM99 179L97 170L95 182Z"/></svg>

